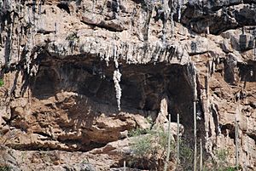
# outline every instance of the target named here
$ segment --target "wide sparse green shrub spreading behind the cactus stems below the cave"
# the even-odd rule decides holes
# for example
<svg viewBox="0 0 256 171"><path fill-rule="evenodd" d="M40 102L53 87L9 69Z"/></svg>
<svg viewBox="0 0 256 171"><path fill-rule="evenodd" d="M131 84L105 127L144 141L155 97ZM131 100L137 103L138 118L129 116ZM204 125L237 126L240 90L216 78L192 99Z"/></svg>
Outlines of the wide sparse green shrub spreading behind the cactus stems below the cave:
<svg viewBox="0 0 256 171"><path fill-rule="evenodd" d="M133 163L142 161L148 161L148 165L155 165L160 163L162 164L165 161L167 155L167 144L168 144L168 134L164 128L157 129L135 129L131 131L130 136L136 137L132 140L131 151L133 152ZM170 146L171 159L177 157L177 143L171 141ZM157 161L157 158L160 157L161 161ZM151 157L151 158L150 158ZM194 163L194 150L189 146L189 142L186 140L180 140L179 148L179 160L180 164L177 170L192 170ZM150 162L150 163L149 163ZM150 168L150 167L149 167ZM158 170L162 170L158 166Z"/></svg>

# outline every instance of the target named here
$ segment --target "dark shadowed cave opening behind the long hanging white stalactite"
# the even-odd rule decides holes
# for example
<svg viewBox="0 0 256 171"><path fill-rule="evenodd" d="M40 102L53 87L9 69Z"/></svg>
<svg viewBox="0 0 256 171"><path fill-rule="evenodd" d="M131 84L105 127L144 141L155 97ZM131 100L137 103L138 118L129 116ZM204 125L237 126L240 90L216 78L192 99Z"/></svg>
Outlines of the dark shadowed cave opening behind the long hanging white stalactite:
<svg viewBox="0 0 256 171"><path fill-rule="evenodd" d="M107 66L105 61L96 57L42 60L32 94L38 99L47 99L58 92L71 91L118 109L114 70L113 62ZM189 84L187 66L166 63L128 65L122 61L119 71L122 74L119 83L122 88L121 111L158 113L160 100L167 96L172 122L177 121L179 113L185 130L193 130L193 89Z"/></svg>

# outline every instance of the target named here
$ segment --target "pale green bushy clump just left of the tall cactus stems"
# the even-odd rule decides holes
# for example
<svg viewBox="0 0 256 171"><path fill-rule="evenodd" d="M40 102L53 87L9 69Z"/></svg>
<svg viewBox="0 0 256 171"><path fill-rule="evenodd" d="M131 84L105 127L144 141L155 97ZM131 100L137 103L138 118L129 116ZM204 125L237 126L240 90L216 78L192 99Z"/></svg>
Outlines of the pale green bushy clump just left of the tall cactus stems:
<svg viewBox="0 0 256 171"><path fill-rule="evenodd" d="M129 133L131 140L131 160L129 165L142 169L161 170L166 158L168 134L164 128L137 128ZM171 143L171 153L175 149ZM175 152L175 151L174 151Z"/></svg>

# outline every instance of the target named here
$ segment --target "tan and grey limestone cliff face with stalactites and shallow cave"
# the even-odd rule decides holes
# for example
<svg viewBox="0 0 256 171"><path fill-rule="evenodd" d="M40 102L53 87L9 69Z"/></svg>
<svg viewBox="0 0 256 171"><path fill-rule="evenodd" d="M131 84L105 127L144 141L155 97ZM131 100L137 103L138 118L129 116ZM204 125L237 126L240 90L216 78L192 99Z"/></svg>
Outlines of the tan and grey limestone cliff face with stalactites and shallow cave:
<svg viewBox="0 0 256 171"><path fill-rule="evenodd" d="M179 113L193 144L196 93L207 155L225 149L235 164L236 119L239 165L255 170L256 1L0 0L0 9L0 143L13 168L122 167L128 131L166 113L172 122Z"/></svg>

